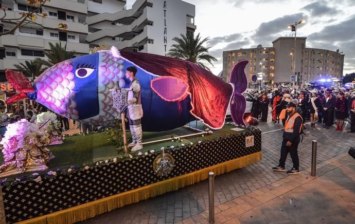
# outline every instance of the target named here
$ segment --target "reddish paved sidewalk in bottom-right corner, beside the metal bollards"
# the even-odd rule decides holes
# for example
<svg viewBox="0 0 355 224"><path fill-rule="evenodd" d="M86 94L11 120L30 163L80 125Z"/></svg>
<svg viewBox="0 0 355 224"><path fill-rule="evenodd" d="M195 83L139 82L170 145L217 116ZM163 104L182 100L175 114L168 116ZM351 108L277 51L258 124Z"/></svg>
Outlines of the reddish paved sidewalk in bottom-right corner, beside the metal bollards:
<svg viewBox="0 0 355 224"><path fill-rule="evenodd" d="M355 160L346 153L215 208L215 223L355 223ZM179 224L208 223L208 211Z"/></svg>

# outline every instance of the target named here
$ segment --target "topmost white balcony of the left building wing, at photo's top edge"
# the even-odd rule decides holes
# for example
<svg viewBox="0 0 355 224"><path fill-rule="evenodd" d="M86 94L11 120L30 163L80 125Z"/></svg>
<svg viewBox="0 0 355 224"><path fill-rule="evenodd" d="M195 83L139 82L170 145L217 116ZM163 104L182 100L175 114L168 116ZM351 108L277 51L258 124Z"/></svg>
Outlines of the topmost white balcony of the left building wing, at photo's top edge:
<svg viewBox="0 0 355 224"><path fill-rule="evenodd" d="M60 0L60 1L50 1L50 2L47 1L44 6L87 14L87 0L83 0L81 2L76 0Z"/></svg>

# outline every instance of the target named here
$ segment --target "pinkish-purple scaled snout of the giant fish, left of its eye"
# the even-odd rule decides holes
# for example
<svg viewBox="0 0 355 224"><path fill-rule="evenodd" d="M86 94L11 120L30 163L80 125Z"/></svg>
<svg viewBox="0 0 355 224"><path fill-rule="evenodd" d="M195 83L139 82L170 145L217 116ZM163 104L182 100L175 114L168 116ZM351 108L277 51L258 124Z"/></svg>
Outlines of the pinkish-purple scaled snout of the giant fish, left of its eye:
<svg viewBox="0 0 355 224"><path fill-rule="evenodd" d="M60 62L44 71L34 80L34 85L39 103L63 117L77 120L79 116L74 100L75 82L72 70L72 60Z"/></svg>

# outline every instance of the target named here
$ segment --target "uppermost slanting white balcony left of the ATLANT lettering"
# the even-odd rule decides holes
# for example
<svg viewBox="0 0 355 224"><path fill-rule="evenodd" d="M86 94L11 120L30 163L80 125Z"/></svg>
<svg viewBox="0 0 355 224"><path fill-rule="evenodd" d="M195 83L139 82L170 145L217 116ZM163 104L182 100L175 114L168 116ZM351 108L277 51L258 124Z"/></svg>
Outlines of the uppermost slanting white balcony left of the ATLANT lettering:
<svg viewBox="0 0 355 224"><path fill-rule="evenodd" d="M88 25L92 25L102 21L109 21L129 25L135 20L135 18L139 17L143 13L143 9L145 7L150 5L152 5L152 3L147 2L147 0L137 0L132 5L132 9L122 10L115 13L105 12L93 16L88 16L86 18L86 23Z"/></svg>

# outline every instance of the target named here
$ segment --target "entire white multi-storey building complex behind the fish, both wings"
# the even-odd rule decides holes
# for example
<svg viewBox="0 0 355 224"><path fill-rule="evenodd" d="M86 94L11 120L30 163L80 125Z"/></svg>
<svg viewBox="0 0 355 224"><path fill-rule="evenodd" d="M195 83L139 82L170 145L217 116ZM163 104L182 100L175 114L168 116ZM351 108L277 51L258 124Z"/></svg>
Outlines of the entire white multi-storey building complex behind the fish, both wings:
<svg viewBox="0 0 355 224"><path fill-rule="evenodd" d="M5 18L18 18L33 10L26 0L3 0ZM0 36L0 81L5 69L37 57L45 58L49 43L67 44L67 51L87 54L96 46L165 55L175 36L193 34L195 6L181 0L137 0L126 9L126 0L51 0L39 9L37 24L26 24ZM0 10L0 18L4 11ZM67 24L67 30L58 24ZM2 21L0 32L15 25Z"/></svg>

